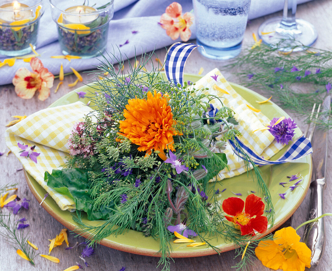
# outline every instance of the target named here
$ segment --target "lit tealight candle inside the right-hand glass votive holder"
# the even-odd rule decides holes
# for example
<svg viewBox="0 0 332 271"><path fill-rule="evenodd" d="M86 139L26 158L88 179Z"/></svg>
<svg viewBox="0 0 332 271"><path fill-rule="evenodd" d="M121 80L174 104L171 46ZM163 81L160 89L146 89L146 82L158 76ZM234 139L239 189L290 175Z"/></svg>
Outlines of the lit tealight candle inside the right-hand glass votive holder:
<svg viewBox="0 0 332 271"><path fill-rule="evenodd" d="M89 6L70 7L65 10L63 21L65 24L89 24L98 18L98 13L89 15L94 12L98 10Z"/></svg>

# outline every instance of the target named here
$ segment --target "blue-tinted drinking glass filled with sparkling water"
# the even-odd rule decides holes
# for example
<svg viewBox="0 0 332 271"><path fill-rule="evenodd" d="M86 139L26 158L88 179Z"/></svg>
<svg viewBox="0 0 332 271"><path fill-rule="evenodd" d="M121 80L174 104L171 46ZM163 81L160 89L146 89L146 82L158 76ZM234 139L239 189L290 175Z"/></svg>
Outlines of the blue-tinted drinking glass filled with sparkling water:
<svg viewBox="0 0 332 271"><path fill-rule="evenodd" d="M193 0L199 51L212 59L229 59L241 51L250 0Z"/></svg>

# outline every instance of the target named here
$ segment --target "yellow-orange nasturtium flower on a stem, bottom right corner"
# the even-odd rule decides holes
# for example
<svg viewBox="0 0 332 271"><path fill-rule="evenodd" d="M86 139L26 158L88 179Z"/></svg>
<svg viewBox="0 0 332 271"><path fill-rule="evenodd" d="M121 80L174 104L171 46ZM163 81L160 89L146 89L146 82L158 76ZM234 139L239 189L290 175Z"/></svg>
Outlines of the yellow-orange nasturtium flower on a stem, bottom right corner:
<svg viewBox="0 0 332 271"><path fill-rule="evenodd" d="M311 251L292 227L277 231L273 240L260 241L255 249L257 258L274 270L302 271L310 268Z"/></svg>

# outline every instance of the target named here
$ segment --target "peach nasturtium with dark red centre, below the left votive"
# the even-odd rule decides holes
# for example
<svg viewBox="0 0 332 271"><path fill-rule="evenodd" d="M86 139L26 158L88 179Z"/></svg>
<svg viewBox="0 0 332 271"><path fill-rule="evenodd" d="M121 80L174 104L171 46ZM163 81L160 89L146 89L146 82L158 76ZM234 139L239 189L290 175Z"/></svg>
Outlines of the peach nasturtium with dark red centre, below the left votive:
<svg viewBox="0 0 332 271"><path fill-rule="evenodd" d="M13 85L17 96L31 99L39 91L38 99L45 101L53 86L54 75L44 68L40 59L33 57L30 61L33 72L26 68L19 68L13 78Z"/></svg>

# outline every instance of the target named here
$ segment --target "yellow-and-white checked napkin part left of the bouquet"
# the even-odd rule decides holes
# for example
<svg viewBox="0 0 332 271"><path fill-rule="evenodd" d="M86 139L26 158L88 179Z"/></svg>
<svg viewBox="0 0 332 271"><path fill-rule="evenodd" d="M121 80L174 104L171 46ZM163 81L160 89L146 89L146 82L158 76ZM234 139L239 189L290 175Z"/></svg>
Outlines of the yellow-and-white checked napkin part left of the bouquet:
<svg viewBox="0 0 332 271"><path fill-rule="evenodd" d="M75 210L72 199L64 196L46 185L44 173L52 169L61 169L66 162L69 149L68 136L76 122L83 121L84 115L91 109L82 102L46 108L38 111L5 132L8 148L20 160L24 169L47 191L61 210ZM28 157L21 157L22 151L17 143L32 147L40 153L37 164Z"/></svg>

